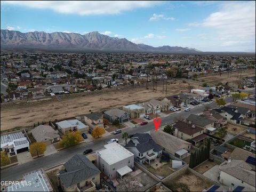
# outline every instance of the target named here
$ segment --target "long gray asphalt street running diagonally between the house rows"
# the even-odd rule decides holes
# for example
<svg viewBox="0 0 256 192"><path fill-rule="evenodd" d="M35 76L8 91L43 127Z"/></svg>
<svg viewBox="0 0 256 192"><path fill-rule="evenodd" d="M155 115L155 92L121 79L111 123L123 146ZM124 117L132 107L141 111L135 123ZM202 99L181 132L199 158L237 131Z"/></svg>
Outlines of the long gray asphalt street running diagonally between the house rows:
<svg viewBox="0 0 256 192"><path fill-rule="evenodd" d="M231 102L232 98L226 98L226 103ZM208 104L207 104L208 105ZM211 108L218 107L215 102L211 103L209 105ZM198 114L202 113L205 109L204 105L196 106L194 109L191 109L190 111L178 111L178 113L172 114L170 116L162 118L161 126L164 126L166 124L170 124L175 122L177 119L183 119L188 117L190 114ZM153 122L148 123L147 125L143 126L137 126L132 128L126 128L123 130L123 132L127 132L129 134L137 133L137 132L148 132L150 130L155 129L155 126ZM117 135L109 135L107 137L104 137L100 141L93 141L90 143L82 143L78 146L61 150L59 153L55 153L49 156L45 156L42 158L35 159L34 161L24 163L21 165L15 165L13 167L10 167L6 170L1 170L1 181L14 181L22 177L23 174L27 172L31 172L34 170L37 170L39 168L47 169L49 167L52 167L54 165L63 163L68 161L71 157L73 157L76 154L82 154L85 149L91 148L94 151L98 150L100 148L103 148L105 143L109 141L112 138L117 138L119 141L123 141L122 139L122 133Z"/></svg>

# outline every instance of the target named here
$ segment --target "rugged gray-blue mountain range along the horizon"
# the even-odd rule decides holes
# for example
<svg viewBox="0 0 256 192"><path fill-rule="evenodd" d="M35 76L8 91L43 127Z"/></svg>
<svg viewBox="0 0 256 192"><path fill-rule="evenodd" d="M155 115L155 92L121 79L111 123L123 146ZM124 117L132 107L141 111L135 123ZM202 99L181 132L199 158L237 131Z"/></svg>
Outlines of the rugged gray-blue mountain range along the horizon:
<svg viewBox="0 0 256 192"><path fill-rule="evenodd" d="M194 48L179 46L153 47L135 44L126 38L109 37L98 31L85 35L77 33L45 33L1 29L1 49L47 49L47 50L79 50L79 51L131 51L131 52L162 52L162 53L199 53Z"/></svg>

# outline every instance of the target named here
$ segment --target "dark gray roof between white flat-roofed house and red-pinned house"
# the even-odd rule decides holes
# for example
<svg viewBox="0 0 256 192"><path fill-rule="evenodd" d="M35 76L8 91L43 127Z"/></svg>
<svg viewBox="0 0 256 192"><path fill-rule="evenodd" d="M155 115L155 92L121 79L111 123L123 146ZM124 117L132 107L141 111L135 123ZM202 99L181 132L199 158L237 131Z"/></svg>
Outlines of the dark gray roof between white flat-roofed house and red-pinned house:
<svg viewBox="0 0 256 192"><path fill-rule="evenodd" d="M139 141L137 146L134 145L132 139L127 143L125 148L136 148L140 153L145 153L146 151L153 149L155 152L161 151L161 147L159 147L155 141L151 138L148 133L135 133L133 138Z"/></svg>

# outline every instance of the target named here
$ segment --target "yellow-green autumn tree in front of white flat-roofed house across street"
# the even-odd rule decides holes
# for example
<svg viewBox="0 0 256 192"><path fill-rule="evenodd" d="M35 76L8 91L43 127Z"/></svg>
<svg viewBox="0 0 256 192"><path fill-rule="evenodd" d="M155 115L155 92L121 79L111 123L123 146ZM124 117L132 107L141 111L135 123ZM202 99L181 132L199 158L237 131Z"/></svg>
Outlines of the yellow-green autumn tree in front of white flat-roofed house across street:
<svg viewBox="0 0 256 192"><path fill-rule="evenodd" d="M64 148L68 148L78 144L79 142L83 141L84 139L81 136L81 132L66 132L62 136L62 140L60 141L60 145Z"/></svg>

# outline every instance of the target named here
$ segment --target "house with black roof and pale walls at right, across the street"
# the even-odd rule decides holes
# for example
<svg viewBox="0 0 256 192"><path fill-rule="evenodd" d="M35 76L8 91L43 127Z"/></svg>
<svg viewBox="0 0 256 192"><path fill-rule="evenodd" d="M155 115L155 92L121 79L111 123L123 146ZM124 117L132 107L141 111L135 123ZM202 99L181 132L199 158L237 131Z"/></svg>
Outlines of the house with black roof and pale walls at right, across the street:
<svg viewBox="0 0 256 192"><path fill-rule="evenodd" d="M241 124L243 119L244 119L244 115L242 115L241 113L238 113L237 109L231 108L231 107L222 107L220 109L214 109L217 110L220 115L222 115L223 117L226 117L228 122L230 123L234 123L234 124Z"/></svg>

